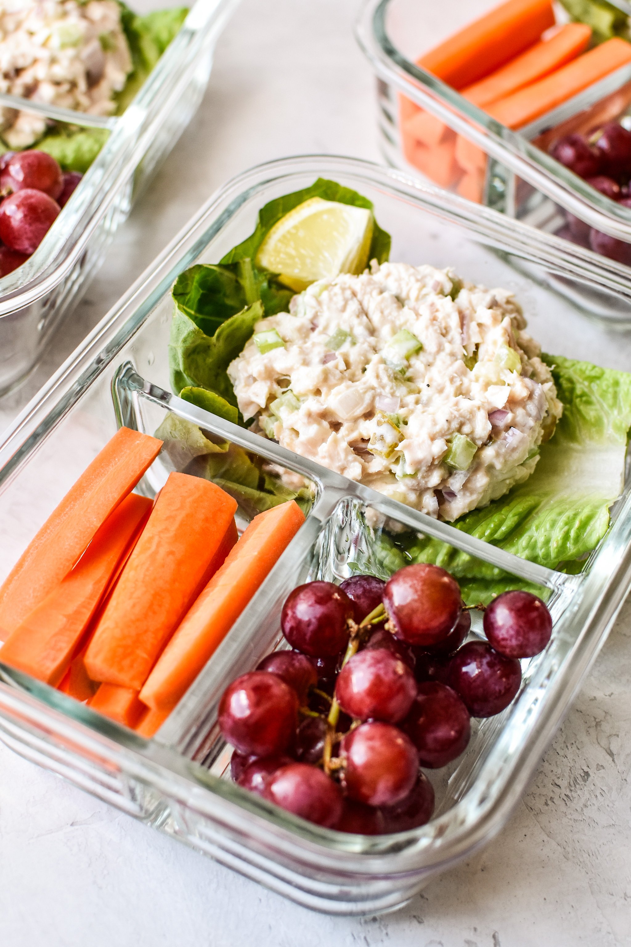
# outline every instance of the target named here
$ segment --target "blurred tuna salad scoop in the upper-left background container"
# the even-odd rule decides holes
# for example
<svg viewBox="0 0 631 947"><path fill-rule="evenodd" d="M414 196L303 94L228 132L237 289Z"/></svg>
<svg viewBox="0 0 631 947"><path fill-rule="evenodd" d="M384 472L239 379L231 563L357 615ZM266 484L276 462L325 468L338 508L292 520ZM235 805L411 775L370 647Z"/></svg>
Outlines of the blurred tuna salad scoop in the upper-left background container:
<svg viewBox="0 0 631 947"><path fill-rule="evenodd" d="M131 72L115 0L0 0L0 92L108 116ZM10 148L42 137L46 119L0 110Z"/></svg>

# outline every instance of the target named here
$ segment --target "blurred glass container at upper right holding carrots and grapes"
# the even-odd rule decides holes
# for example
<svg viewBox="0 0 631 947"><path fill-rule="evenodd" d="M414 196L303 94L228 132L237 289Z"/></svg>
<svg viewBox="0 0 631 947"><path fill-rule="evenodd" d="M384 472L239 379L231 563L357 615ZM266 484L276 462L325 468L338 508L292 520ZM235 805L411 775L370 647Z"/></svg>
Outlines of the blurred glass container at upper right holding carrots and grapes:
<svg viewBox="0 0 631 947"><path fill-rule="evenodd" d="M386 161L548 233L572 239L565 212L569 211L589 226L631 242L631 209L591 188L548 153L565 135L589 135L607 121L619 120L631 128L631 63L517 132L416 64L429 49L498 6L497 0L447 0L433 7L416 0L366 0L357 37L377 76L379 139ZM625 0L616 0L614 6L631 13ZM559 22L568 19L558 5L555 13ZM473 177L457 164L458 151L455 162L445 158L437 160L433 170L425 168L425 174L420 170L423 162L416 161L406 147L409 137L402 134L406 116L417 114L419 108L429 113L430 121L440 119L465 139L469 158L473 149L482 169L475 186ZM626 273L628 277L628 269ZM598 314L628 322L628 313L603 309Z"/></svg>

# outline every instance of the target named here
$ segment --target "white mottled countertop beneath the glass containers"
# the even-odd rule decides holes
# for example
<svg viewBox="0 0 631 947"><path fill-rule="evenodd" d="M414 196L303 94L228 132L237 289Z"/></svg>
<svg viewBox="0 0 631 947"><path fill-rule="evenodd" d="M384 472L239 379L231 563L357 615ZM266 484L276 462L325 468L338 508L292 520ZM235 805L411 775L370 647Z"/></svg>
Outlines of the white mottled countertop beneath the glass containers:
<svg viewBox="0 0 631 947"><path fill-rule="evenodd" d="M140 7L140 4L134 4ZM357 0L243 0L194 124L119 231L8 423L228 177L291 153L378 160ZM0 744L2 947L631 945L631 605L500 836L381 918L307 912Z"/></svg>

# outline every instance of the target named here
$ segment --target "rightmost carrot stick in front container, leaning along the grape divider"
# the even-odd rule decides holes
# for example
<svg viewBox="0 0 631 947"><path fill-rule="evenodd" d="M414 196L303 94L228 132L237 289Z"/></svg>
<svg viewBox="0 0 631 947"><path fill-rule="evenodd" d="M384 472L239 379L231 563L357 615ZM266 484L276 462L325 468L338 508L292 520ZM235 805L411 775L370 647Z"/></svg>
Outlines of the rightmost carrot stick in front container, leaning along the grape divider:
<svg viewBox="0 0 631 947"><path fill-rule="evenodd" d="M254 516L149 674L145 704L170 710L178 703L304 522L293 500Z"/></svg>

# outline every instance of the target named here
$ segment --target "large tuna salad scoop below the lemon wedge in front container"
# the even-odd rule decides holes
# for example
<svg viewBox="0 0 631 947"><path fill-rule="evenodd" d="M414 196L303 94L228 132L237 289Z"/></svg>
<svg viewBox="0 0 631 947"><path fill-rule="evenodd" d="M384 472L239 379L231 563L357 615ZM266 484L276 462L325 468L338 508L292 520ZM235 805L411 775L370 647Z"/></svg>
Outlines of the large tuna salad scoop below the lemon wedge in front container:
<svg viewBox="0 0 631 947"><path fill-rule="evenodd" d="M563 406L508 291L373 262L289 309L228 367L253 430L448 521L535 470Z"/></svg>

